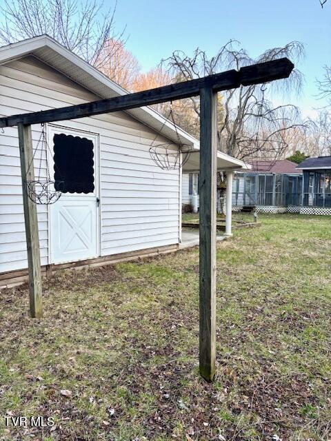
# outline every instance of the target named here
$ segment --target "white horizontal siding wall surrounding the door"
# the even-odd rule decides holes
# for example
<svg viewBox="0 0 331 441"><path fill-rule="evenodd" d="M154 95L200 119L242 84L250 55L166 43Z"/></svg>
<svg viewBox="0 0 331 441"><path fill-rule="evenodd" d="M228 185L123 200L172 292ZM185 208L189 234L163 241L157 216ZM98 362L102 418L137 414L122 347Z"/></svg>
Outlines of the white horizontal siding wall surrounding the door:
<svg viewBox="0 0 331 441"><path fill-rule="evenodd" d="M3 116L98 98L34 57L0 66ZM149 127L124 112L59 125L100 137L101 256L178 243L179 172L154 164L148 150L155 133ZM40 125L32 127L34 146L40 130ZM21 191L17 127L6 127L0 130L0 272L27 267ZM46 265L46 206L38 205L38 220L41 264Z"/></svg>

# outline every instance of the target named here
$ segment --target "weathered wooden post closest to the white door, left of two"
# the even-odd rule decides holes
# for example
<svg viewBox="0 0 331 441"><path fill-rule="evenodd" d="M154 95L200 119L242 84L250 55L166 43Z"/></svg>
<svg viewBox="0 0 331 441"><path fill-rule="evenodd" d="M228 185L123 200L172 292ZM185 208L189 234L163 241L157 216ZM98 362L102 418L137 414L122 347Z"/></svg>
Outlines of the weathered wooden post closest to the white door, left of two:
<svg viewBox="0 0 331 441"><path fill-rule="evenodd" d="M30 290L30 314L32 318L43 316L41 267L37 207L26 192L26 181L34 181L31 125L19 123L19 156L23 189L23 209L26 223L26 247L28 249L28 270Z"/></svg>

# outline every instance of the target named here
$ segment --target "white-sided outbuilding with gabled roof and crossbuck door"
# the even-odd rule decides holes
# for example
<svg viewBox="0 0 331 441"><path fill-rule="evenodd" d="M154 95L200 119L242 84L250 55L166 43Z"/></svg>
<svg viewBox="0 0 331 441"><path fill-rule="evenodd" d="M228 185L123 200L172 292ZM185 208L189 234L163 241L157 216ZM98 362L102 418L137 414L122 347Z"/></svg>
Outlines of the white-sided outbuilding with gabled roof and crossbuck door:
<svg viewBox="0 0 331 441"><path fill-rule="evenodd" d="M126 93L48 36L0 48L1 116ZM38 144L42 130L48 140L48 167ZM196 139L177 130L181 142L199 150ZM40 167L46 177L48 168L54 179L54 163L66 165L67 190L56 203L37 205L44 272L177 249L182 171L161 170L154 163L149 150L155 138L178 148L174 125L149 107L32 126L34 174ZM21 282L28 274L17 127L0 130L0 150L3 287ZM218 158L219 168L242 166L230 156ZM199 152L185 167L199 170Z"/></svg>

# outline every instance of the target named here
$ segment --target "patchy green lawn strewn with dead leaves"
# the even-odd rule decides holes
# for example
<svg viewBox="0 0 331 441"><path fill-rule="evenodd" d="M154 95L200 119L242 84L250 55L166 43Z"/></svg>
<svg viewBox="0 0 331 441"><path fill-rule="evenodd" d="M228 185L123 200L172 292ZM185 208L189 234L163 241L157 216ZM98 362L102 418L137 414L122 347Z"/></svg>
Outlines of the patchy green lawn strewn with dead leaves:
<svg viewBox="0 0 331 441"><path fill-rule="evenodd" d="M1 291L0 439L330 440L331 218L259 220L218 245L213 384L198 374L197 248L57 274L42 320L26 286Z"/></svg>

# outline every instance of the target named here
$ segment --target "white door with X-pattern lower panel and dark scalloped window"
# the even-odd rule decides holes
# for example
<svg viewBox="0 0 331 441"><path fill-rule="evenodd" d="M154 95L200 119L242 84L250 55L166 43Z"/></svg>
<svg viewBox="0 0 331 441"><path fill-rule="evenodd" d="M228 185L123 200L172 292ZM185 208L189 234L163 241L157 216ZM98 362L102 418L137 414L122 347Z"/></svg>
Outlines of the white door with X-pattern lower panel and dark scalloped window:
<svg viewBox="0 0 331 441"><path fill-rule="evenodd" d="M50 205L50 263L99 256L99 145L94 134L48 126L51 178L61 198Z"/></svg>

